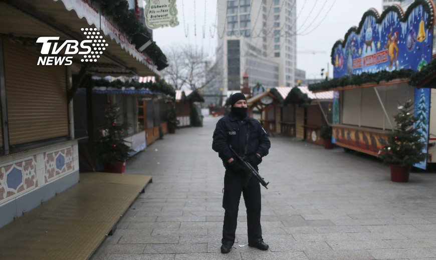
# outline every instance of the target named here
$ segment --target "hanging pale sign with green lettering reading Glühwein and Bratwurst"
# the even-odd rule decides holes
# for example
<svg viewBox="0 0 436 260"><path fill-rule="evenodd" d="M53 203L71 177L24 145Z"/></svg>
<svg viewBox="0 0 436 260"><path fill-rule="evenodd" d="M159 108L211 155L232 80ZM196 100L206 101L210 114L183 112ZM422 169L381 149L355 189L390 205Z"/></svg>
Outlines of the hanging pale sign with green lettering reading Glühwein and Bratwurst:
<svg viewBox="0 0 436 260"><path fill-rule="evenodd" d="M178 26L176 0L146 0L145 24L149 29Z"/></svg>

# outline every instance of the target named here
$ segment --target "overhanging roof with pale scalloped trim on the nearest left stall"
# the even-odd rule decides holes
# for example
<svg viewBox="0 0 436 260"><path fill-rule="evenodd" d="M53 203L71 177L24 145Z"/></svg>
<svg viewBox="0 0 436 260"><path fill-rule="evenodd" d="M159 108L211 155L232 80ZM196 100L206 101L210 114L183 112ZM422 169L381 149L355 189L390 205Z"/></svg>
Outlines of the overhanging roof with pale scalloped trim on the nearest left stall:
<svg viewBox="0 0 436 260"><path fill-rule="evenodd" d="M150 75L158 76L155 65L108 18L98 13L85 1L72 0L20 0L0 2L0 33L14 38L36 39L59 36L60 40L87 40L82 28L95 27L103 32L102 40L108 43L97 62L88 63L88 72L97 76ZM35 40L35 41L33 41ZM73 55L73 73L83 64L82 55Z"/></svg>

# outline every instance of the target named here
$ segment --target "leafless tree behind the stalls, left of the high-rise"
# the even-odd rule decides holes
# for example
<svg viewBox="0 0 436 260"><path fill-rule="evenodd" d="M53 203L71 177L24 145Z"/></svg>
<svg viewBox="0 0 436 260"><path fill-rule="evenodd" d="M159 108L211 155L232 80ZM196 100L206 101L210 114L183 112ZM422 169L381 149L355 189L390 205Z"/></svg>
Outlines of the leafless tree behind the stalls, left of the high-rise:
<svg viewBox="0 0 436 260"><path fill-rule="evenodd" d="M182 87L202 90L209 87L219 75L216 63L212 64L212 59L207 54L191 46L173 46L164 53L169 66L162 76L177 90Z"/></svg>

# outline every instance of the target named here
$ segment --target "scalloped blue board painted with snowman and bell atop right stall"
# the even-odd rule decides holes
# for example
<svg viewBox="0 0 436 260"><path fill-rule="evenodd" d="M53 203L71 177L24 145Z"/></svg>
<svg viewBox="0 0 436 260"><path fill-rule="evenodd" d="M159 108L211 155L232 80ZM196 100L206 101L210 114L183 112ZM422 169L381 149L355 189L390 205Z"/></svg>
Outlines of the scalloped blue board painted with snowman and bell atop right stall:
<svg viewBox="0 0 436 260"><path fill-rule="evenodd" d="M415 1L405 12L398 6L381 15L367 11L359 27L333 46L334 78L403 68L419 71L431 61L432 10L424 1Z"/></svg>

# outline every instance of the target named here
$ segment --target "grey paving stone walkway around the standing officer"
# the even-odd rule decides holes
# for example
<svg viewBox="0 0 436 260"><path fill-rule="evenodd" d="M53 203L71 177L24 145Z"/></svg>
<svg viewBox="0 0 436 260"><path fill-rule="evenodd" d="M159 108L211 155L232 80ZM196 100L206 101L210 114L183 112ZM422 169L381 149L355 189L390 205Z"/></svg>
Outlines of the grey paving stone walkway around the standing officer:
<svg viewBox="0 0 436 260"><path fill-rule="evenodd" d="M224 167L211 149L217 120L177 129L127 163L126 173L153 182L91 259L436 259L436 174L394 183L374 157L280 135L259 166L270 181L261 186L270 249L247 245L241 201L235 248L222 254Z"/></svg>

